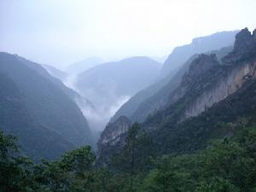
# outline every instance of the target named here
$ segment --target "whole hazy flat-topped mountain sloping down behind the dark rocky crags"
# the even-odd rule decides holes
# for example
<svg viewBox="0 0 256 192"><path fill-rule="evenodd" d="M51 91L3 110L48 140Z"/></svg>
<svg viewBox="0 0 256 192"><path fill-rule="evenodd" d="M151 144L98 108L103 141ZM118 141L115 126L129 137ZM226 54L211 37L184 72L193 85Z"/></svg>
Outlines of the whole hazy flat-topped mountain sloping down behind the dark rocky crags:
<svg viewBox="0 0 256 192"><path fill-rule="evenodd" d="M191 44L175 48L161 69L160 80L132 96L113 115L111 121L113 122L121 115L125 115L133 120L143 121L143 119L147 118L148 114L159 110L160 107L166 104L166 97L180 82L190 61L195 59L195 56L200 53L214 52L214 50L218 49L220 50L216 54L218 59L220 59L231 51L236 33L237 31L218 32L207 37L195 38Z"/></svg>

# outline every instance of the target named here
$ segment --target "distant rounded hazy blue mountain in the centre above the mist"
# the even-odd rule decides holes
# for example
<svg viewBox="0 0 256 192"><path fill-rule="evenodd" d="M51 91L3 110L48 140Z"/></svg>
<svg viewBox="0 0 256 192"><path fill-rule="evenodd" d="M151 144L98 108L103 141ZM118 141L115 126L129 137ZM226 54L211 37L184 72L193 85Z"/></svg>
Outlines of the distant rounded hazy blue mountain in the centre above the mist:
<svg viewBox="0 0 256 192"><path fill-rule="evenodd" d="M108 62L79 73L77 86L82 93L91 90L101 97L104 95L105 98L110 98L113 94L132 96L154 82L160 67L160 63L147 57L131 57ZM90 100L93 102L93 98Z"/></svg>

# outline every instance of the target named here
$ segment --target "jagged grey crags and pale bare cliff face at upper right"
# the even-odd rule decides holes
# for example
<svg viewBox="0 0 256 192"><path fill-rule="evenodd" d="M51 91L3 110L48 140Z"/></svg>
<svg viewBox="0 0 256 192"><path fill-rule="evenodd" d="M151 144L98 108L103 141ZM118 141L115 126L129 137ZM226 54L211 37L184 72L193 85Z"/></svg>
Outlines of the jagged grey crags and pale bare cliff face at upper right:
<svg viewBox="0 0 256 192"><path fill-rule="evenodd" d="M186 105L182 119L197 116L235 93L247 79L255 78L256 61L252 61L256 55L255 44L253 35L246 28L237 33L234 49L224 57L222 65L216 55L200 55L192 61L189 72L183 76L181 85L173 91L170 99L170 103L174 103L196 91Z"/></svg>

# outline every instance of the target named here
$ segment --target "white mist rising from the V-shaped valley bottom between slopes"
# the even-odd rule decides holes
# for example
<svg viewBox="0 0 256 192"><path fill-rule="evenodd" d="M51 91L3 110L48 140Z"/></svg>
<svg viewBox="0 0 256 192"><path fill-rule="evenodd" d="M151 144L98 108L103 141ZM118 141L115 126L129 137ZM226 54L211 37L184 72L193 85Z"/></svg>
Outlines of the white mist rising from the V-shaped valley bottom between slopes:
<svg viewBox="0 0 256 192"><path fill-rule="evenodd" d="M99 94L92 89L84 89L82 92L75 85L76 81L77 75L70 74L63 83L92 102L93 106L90 105L90 103L84 103L84 101L81 101L81 98L76 98L75 100L84 114L84 117L87 119L91 131L95 133L103 131L114 113L116 113L117 110L131 98L131 96L118 96L115 94L114 83L111 88L108 86L108 89L103 89L105 93Z"/></svg>

